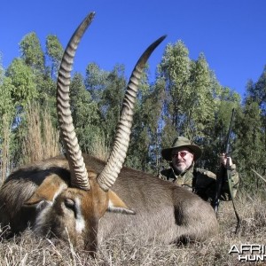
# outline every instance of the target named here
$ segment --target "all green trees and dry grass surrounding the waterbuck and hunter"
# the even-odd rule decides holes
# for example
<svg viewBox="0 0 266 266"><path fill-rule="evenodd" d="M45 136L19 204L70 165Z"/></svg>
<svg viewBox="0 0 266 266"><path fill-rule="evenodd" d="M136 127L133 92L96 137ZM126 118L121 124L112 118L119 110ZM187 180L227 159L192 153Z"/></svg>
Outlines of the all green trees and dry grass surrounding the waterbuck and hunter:
<svg viewBox="0 0 266 266"><path fill-rule="evenodd" d="M56 77L62 56L57 36L49 35L42 51L35 33L20 42L20 58L0 67L0 173L1 182L13 168L63 152L55 108ZM0 265L237 265L231 245L263 244L266 218L263 208L266 169L266 72L247 82L243 99L223 87L203 54L192 60L182 41L169 43L158 62L156 78L142 77L126 165L157 175L167 167L160 150L176 135L190 137L204 149L198 164L216 172L218 154L236 109L231 134L231 156L241 184L236 205L242 223L236 225L231 203L220 209L220 236L208 243L159 246L117 236L100 246L97 258L74 250L59 239L40 239L31 231L0 242ZM82 151L106 159L113 143L126 87L123 65L111 71L88 63L85 76L71 82L74 125ZM255 170L259 175L255 174ZM1 215L1 214L0 214ZM2 228L0 236L8 228Z"/></svg>

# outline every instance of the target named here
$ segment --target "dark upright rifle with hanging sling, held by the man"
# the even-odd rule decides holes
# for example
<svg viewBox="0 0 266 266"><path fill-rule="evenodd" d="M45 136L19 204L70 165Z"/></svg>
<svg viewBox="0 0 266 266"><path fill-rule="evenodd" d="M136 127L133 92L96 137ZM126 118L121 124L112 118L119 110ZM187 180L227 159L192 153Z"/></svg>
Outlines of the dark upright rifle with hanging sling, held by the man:
<svg viewBox="0 0 266 266"><path fill-rule="evenodd" d="M230 196L231 196L232 205L233 205L235 215L236 215L237 220L238 220L236 231L235 231L235 233L237 233L239 231L240 219L239 219L239 215L236 211L236 207L235 207L234 200L233 200L233 195L231 192L232 187L231 187L231 170L230 170L230 137L231 137L231 126L232 126L232 122L234 120L234 115L235 115L235 109L233 108L231 111L230 127L228 130L228 135L227 135L226 145L225 145L225 156L227 158L226 159L226 167L224 167L223 164L220 165L220 169L219 169L217 179L216 179L216 191L215 191L215 200L213 202L213 207L215 209L215 214L217 215L218 207L219 207L219 203L220 203L221 192L222 192L222 186L223 186L224 182L227 181L228 185L229 185L229 192L230 192Z"/></svg>

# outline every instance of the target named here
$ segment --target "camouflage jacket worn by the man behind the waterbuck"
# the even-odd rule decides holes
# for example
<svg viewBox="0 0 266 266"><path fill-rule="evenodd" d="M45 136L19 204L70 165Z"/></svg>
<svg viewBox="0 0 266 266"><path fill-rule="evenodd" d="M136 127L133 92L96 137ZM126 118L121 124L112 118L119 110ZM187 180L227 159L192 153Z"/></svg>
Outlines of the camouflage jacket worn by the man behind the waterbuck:
<svg viewBox="0 0 266 266"><path fill-rule="evenodd" d="M170 163L170 168L160 172L160 178L183 186L210 203L215 200L216 175L211 171L203 168L194 168L194 165L192 165L192 167L187 169L184 173L177 175L172 167L172 163ZM231 166L231 183L232 197L234 198L239 187L239 174L236 171L235 165ZM231 200L231 193L227 180L223 184L220 200Z"/></svg>

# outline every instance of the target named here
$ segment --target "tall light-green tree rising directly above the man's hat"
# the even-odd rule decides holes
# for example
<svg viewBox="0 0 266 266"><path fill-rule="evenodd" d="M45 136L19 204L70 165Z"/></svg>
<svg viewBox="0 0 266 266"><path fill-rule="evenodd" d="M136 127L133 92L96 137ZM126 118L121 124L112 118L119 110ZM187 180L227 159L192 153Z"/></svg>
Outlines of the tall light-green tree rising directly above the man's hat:
<svg viewBox="0 0 266 266"><path fill-rule="evenodd" d="M179 135L202 141L215 120L216 108L213 75L203 53L192 60L183 42L168 44L159 77L165 80L166 91L162 145L171 145Z"/></svg>

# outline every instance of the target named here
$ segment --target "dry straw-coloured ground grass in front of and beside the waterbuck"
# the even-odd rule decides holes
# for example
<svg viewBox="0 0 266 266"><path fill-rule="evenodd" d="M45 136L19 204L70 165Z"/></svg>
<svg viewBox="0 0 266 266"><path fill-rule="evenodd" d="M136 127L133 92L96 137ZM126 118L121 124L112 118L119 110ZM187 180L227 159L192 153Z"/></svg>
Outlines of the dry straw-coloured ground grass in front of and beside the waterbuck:
<svg viewBox="0 0 266 266"><path fill-rule="evenodd" d="M242 225L234 234L236 218L231 202L220 209L220 235L206 243L188 246L161 246L140 243L129 236L109 239L99 246L97 258L74 250L70 243L45 239L26 231L22 236L0 242L0 265L246 265L236 254L228 254L232 245L265 244L266 210L260 199L236 201ZM252 263L266 265L266 262Z"/></svg>

